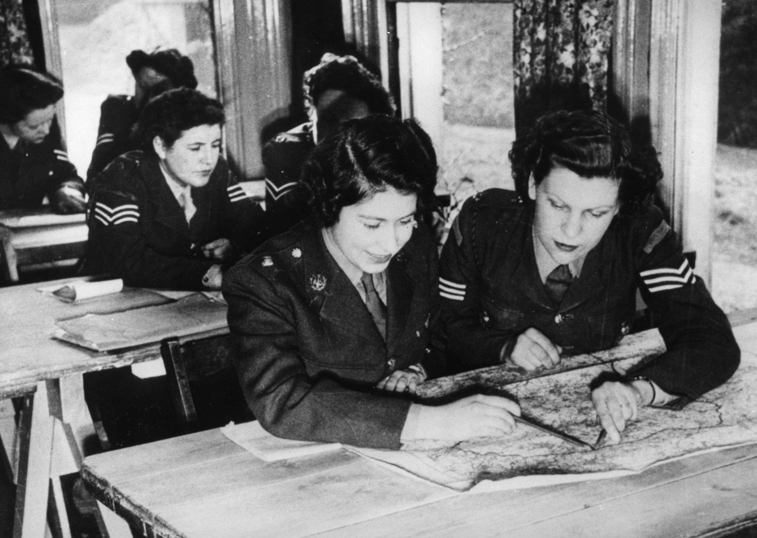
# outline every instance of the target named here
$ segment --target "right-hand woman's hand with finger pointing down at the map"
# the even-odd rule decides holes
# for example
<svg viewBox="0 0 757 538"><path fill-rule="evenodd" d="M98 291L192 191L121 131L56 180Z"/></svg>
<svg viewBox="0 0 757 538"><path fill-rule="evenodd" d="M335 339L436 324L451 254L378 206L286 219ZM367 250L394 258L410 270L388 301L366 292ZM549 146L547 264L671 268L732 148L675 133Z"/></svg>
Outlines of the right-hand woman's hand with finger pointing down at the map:
<svg viewBox="0 0 757 538"><path fill-rule="evenodd" d="M642 397L634 385L615 381L604 382L591 391L591 401L600 424L607 431L608 444L619 443L626 422L637 419Z"/></svg>

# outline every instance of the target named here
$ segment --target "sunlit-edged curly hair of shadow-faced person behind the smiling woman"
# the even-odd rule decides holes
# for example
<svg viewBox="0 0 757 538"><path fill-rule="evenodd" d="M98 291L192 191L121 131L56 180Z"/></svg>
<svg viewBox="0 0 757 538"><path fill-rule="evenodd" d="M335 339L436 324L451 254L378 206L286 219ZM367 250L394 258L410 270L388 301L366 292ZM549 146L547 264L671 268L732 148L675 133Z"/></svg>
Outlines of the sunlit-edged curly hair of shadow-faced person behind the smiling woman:
<svg viewBox="0 0 757 538"><path fill-rule="evenodd" d="M321 57L321 63L305 72L302 82L305 109L314 110L318 97L326 90L345 91L364 101L372 114L394 116L397 110L391 94L378 77L354 56L336 56L327 52Z"/></svg>

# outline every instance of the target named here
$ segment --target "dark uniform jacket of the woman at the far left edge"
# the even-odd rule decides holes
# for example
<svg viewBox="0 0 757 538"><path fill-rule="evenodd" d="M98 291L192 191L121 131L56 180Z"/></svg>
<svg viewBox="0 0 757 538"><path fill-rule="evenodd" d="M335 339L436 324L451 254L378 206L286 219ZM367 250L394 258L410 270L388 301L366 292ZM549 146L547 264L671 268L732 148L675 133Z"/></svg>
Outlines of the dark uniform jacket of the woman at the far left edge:
<svg viewBox="0 0 757 538"><path fill-rule="evenodd" d="M18 141L11 150L0 136L0 209L33 209L64 186L84 192L84 182L68 160L54 122L40 144Z"/></svg>

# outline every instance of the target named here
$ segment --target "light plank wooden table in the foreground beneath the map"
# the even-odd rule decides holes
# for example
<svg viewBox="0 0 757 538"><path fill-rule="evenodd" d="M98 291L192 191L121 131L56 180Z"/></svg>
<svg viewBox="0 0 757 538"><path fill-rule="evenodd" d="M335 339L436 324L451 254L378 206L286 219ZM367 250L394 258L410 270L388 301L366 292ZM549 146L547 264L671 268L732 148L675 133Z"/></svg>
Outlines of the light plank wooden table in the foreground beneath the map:
<svg viewBox="0 0 757 538"><path fill-rule="evenodd" d="M735 332L757 354L757 324ZM757 445L622 478L478 494L440 492L356 457L263 462L211 430L89 457L82 474L101 502L164 538L690 538L757 524Z"/></svg>

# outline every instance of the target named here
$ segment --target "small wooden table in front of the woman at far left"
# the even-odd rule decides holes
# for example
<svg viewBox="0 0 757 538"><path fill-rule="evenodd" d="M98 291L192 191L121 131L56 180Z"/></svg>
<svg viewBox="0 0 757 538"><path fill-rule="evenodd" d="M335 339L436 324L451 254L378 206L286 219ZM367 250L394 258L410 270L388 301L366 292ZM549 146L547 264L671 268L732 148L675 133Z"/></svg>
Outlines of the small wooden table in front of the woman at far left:
<svg viewBox="0 0 757 538"><path fill-rule="evenodd" d="M0 212L4 278L18 282L18 268L45 269L76 264L84 254L89 227L84 213L57 215L49 208Z"/></svg>

